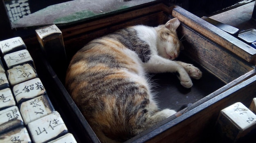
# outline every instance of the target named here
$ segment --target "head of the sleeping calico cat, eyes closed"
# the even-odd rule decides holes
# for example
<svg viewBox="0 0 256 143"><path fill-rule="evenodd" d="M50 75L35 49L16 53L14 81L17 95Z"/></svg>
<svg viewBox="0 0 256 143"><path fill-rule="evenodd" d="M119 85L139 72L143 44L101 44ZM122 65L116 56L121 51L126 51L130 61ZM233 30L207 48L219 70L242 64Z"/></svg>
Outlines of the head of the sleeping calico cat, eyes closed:
<svg viewBox="0 0 256 143"><path fill-rule="evenodd" d="M180 54L183 46L177 37L176 30L180 26L180 21L173 18L164 25L156 27L157 30L157 50L160 56L174 60Z"/></svg>

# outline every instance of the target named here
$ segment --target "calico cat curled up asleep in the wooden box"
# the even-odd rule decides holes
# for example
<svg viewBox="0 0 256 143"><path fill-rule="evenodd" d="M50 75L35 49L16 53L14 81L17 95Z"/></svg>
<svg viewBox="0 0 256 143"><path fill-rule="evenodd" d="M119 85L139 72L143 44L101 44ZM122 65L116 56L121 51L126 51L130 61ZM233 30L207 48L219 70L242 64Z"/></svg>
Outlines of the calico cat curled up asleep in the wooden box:
<svg viewBox="0 0 256 143"><path fill-rule="evenodd" d="M201 78L197 67L173 61L180 53L179 25L173 18L157 27L124 28L73 56L66 87L101 142L125 141L176 113L159 111L147 73L177 72L186 88Z"/></svg>

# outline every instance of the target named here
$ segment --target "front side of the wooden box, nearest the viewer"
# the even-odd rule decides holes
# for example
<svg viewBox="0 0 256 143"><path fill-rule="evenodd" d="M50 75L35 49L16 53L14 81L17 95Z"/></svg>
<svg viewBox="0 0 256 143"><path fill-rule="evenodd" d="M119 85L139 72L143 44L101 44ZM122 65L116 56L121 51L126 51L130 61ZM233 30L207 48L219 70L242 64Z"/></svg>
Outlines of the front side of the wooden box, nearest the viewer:
<svg viewBox="0 0 256 143"><path fill-rule="evenodd" d="M143 136L138 135L139 137L134 137L126 143L168 143L173 141L195 143L200 141L207 142L207 139L211 139L214 142L214 139L217 139L214 136L214 126L220 110L235 102L242 102L245 106L249 106L255 96L255 86L256 76L253 76L215 98L191 109L186 114L171 121L163 121L154 130L150 129ZM241 95L243 95L243 98L241 98Z"/></svg>

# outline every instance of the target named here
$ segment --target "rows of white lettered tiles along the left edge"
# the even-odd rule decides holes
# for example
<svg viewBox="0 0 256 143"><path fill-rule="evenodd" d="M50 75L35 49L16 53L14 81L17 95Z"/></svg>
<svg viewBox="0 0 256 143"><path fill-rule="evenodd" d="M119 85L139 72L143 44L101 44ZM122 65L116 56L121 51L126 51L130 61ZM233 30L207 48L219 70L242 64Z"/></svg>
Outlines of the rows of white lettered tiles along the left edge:
<svg viewBox="0 0 256 143"><path fill-rule="evenodd" d="M76 143L20 37L0 41L0 142Z"/></svg>

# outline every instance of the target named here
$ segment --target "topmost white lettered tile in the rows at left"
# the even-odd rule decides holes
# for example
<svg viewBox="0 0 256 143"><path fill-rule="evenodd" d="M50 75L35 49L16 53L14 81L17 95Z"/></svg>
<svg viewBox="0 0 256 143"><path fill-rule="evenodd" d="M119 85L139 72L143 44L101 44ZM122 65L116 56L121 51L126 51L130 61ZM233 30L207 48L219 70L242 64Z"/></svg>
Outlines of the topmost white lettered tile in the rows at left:
<svg viewBox="0 0 256 143"><path fill-rule="evenodd" d="M21 37L13 37L0 41L0 50L2 54L22 49L26 49L26 45Z"/></svg>

